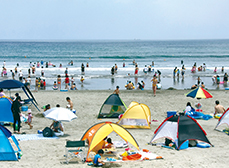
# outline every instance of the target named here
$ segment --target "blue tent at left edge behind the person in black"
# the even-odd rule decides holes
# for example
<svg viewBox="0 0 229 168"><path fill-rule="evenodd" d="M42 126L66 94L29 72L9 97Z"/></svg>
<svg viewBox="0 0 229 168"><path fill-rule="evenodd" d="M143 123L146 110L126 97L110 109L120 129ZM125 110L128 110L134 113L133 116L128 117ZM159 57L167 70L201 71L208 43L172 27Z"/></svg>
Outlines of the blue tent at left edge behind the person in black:
<svg viewBox="0 0 229 168"><path fill-rule="evenodd" d="M11 106L12 100L10 98L0 97L0 122L14 122Z"/></svg>

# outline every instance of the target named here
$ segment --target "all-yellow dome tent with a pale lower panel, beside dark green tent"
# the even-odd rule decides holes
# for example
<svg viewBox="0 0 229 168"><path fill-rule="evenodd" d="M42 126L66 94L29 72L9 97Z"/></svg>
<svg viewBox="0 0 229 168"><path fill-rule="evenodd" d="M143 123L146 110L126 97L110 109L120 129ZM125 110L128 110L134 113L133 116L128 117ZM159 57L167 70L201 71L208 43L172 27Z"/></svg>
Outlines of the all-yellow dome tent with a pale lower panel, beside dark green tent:
<svg viewBox="0 0 229 168"><path fill-rule="evenodd" d="M124 128L150 128L151 113L147 105L131 102L128 109L118 121Z"/></svg>

